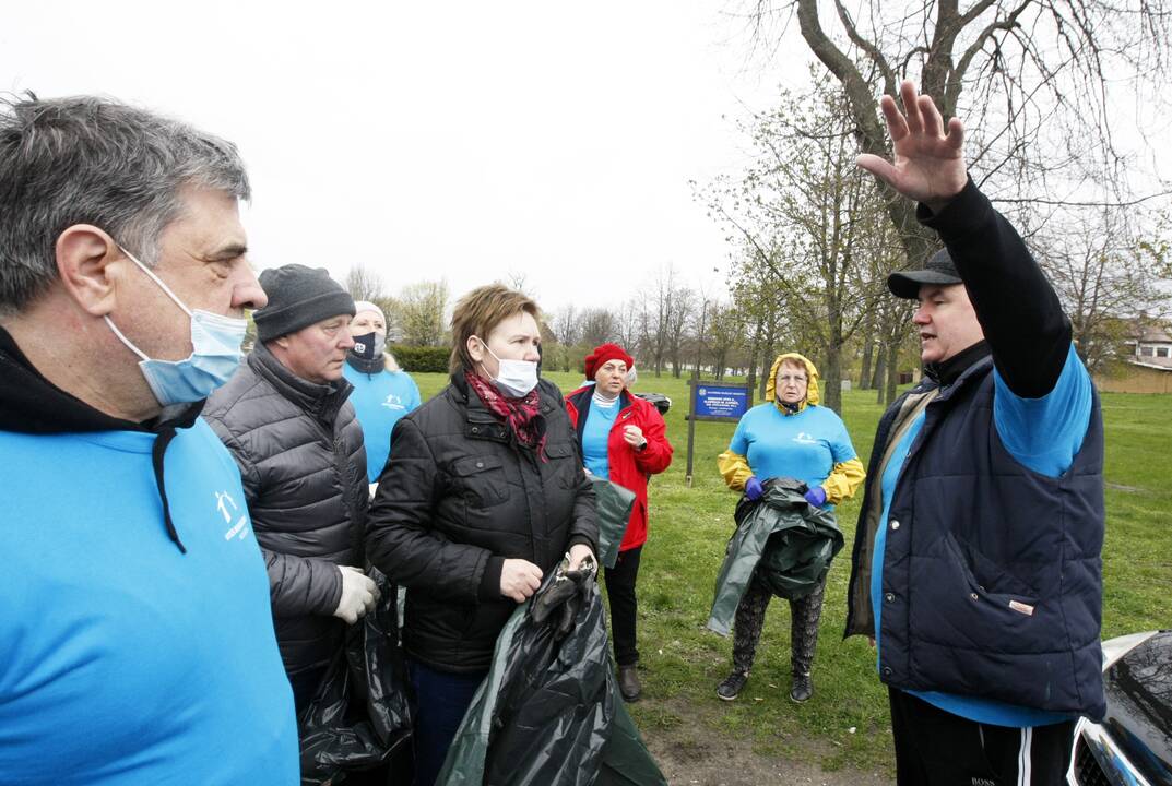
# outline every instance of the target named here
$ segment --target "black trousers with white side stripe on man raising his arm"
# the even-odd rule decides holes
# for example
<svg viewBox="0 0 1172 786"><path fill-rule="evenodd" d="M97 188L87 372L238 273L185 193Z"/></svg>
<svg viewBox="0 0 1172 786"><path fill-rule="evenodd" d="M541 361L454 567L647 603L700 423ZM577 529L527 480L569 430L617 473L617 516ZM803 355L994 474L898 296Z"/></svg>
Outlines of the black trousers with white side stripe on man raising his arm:
<svg viewBox="0 0 1172 786"><path fill-rule="evenodd" d="M1014 729L961 718L888 688L899 786L1061 786L1075 722Z"/></svg>

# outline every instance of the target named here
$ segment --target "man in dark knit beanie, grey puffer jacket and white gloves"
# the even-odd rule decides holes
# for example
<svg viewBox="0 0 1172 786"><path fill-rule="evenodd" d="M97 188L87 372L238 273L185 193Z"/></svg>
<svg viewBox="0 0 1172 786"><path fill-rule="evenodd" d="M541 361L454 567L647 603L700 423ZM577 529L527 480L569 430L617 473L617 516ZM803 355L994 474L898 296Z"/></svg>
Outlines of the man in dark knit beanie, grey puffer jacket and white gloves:
<svg viewBox="0 0 1172 786"><path fill-rule="evenodd" d="M377 601L361 570L366 449L342 377L354 300L322 268L260 274L257 348L204 417L240 466L268 568L277 642L300 715L353 624Z"/></svg>

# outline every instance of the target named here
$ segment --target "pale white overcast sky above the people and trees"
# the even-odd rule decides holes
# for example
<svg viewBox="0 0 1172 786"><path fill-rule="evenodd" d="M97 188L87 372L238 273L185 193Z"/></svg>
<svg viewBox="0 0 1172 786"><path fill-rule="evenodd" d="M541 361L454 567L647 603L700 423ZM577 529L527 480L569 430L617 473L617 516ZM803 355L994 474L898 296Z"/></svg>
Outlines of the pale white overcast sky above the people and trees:
<svg viewBox="0 0 1172 786"><path fill-rule="evenodd" d="M524 274L546 309L608 306L667 264L723 287L724 233L688 182L743 163L736 118L805 57L747 68L724 7L9 4L0 88L105 94L236 142L259 267L362 262L391 293L454 295Z"/></svg>

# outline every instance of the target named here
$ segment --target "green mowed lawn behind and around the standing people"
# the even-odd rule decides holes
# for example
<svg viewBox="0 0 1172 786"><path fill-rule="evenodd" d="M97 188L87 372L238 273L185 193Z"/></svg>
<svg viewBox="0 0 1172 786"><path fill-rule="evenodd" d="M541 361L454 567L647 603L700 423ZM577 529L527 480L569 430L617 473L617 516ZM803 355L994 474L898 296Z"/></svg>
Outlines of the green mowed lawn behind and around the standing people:
<svg viewBox="0 0 1172 786"><path fill-rule="evenodd" d="M548 375L568 392L580 377ZM447 377L416 376L424 399ZM650 486L650 539L639 576L639 642L645 700L632 705L643 734L668 734L673 745L701 746L711 738L752 740L763 754L813 760L833 770L892 767L886 690L874 669L874 650L859 636L843 640L850 548L859 498L839 506L846 547L830 572L823 609L815 697L789 700L788 604L770 606L749 684L736 702L716 698L730 668L731 638L703 628L716 572L732 531L736 495L716 472L716 456L732 423L697 423L693 485L687 465L688 385L670 376L641 376L636 390L662 392L674 404L667 416L675 446L672 467ZM883 408L875 392L844 396L844 419L864 465ZM1106 544L1104 637L1172 627L1172 396L1105 394ZM859 494L861 497L861 493Z"/></svg>

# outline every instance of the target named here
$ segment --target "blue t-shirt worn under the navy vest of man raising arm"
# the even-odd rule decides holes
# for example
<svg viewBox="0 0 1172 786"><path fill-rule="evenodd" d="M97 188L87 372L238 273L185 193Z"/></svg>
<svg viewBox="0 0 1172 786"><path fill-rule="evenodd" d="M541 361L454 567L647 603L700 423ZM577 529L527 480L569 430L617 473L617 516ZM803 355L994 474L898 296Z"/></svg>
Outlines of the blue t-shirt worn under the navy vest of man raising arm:
<svg viewBox="0 0 1172 786"><path fill-rule="evenodd" d="M1090 425L1092 403L1091 378L1074 346L1070 347L1054 390L1041 398L1021 398L1006 385L996 369L993 375L993 422L1006 450L1023 466L1051 478L1070 469ZM880 479L883 515L879 518L880 525L875 532L871 565L871 607L875 618L877 661L879 648L883 645L879 636L879 616L883 611L880 599L883 558L887 546L887 517L891 513L892 499L895 497L899 471L926 417L926 413L921 412L911 424L892 452ZM879 449L878 445L875 447ZM1070 716L1058 712L1045 712L975 696L940 691L907 692L953 715L996 726L1041 726L1070 719Z"/></svg>

